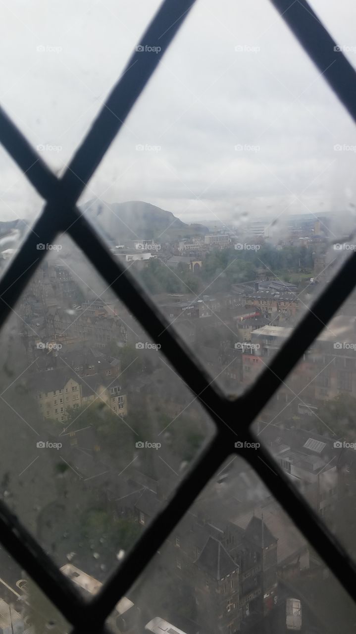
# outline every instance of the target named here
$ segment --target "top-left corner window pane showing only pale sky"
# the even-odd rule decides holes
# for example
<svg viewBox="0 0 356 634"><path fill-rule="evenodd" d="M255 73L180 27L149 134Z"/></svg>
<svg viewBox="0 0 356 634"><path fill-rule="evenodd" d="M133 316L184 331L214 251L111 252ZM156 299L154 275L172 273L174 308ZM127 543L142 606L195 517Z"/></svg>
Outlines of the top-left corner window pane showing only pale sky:
<svg viewBox="0 0 356 634"><path fill-rule="evenodd" d="M159 6L6 0L1 105L42 157L63 171Z"/></svg>

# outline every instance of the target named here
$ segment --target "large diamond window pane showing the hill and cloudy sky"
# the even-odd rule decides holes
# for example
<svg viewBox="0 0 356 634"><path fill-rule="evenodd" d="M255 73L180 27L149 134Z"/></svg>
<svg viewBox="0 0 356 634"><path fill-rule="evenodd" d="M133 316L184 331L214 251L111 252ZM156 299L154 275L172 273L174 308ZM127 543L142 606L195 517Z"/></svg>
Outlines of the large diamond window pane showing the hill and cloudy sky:
<svg viewBox="0 0 356 634"><path fill-rule="evenodd" d="M264 368L251 333L293 327L353 248L351 146L270 3L197 3L80 205L240 394Z"/></svg>

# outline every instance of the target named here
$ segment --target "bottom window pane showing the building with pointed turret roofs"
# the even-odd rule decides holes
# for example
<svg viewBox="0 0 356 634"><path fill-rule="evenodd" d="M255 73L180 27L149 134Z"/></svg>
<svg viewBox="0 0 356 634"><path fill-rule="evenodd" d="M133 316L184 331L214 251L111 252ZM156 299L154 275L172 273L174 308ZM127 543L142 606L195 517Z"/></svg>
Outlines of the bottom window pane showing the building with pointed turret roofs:
<svg viewBox="0 0 356 634"><path fill-rule="evenodd" d="M122 616L130 634L351 634L356 624L352 600L257 475L233 456L127 596L134 606ZM111 620L122 623L116 611Z"/></svg>

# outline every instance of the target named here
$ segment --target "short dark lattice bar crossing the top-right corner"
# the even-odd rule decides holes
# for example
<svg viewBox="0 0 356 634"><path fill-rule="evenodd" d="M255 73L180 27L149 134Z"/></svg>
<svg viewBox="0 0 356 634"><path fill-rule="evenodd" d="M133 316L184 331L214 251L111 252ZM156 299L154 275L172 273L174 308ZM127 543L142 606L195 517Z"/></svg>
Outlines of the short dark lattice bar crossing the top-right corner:
<svg viewBox="0 0 356 634"><path fill-rule="evenodd" d="M306 0L270 0L356 121L356 71Z"/></svg>

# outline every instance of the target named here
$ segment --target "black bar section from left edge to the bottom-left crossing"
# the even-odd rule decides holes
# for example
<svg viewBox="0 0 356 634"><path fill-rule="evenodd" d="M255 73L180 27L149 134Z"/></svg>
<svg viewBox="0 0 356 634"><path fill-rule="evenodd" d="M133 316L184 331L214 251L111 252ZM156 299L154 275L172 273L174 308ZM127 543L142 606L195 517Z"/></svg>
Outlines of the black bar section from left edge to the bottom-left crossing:
<svg viewBox="0 0 356 634"><path fill-rule="evenodd" d="M0 501L0 538L10 555L65 618L72 624L79 623L79 609L86 606L84 600L3 501Z"/></svg>

